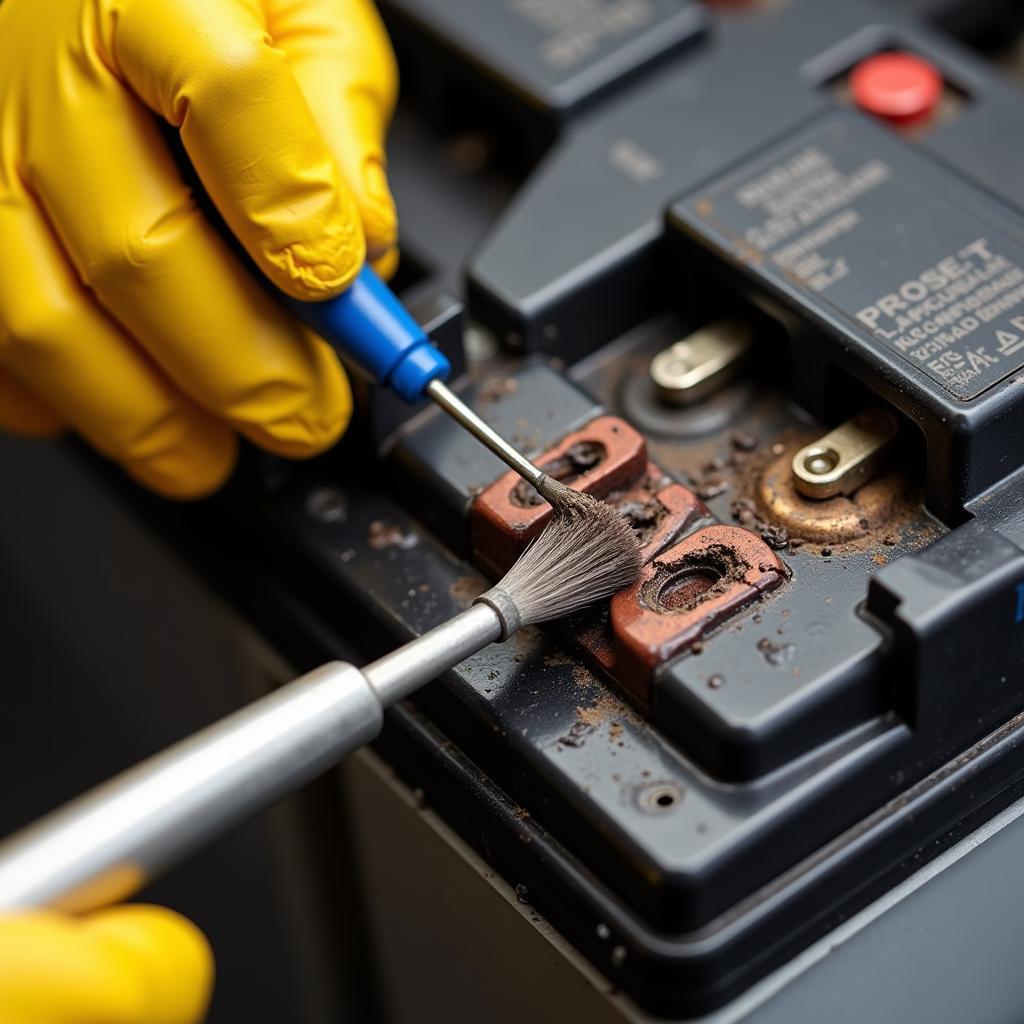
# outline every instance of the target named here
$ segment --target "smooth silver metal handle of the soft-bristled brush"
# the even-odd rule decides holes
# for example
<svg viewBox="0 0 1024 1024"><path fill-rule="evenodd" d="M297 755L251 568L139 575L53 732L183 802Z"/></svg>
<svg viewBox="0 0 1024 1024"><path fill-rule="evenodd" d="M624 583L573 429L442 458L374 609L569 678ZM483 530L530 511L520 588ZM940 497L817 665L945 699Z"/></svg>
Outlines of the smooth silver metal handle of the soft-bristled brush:
<svg viewBox="0 0 1024 1024"><path fill-rule="evenodd" d="M373 739L384 709L498 640L474 604L361 671L333 662L0 843L0 910L124 899Z"/></svg>

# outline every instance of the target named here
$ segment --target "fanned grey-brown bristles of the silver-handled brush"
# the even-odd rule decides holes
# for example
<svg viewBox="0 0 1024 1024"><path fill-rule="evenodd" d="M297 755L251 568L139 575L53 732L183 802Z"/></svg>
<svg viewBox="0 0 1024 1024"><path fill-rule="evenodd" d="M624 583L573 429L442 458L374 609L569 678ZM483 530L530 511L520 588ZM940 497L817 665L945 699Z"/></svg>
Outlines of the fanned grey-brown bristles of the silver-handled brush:
<svg viewBox="0 0 1024 1024"><path fill-rule="evenodd" d="M640 546L630 524L610 505L559 486L572 498L545 495L555 515L498 585L523 626L561 618L640 575Z"/></svg>

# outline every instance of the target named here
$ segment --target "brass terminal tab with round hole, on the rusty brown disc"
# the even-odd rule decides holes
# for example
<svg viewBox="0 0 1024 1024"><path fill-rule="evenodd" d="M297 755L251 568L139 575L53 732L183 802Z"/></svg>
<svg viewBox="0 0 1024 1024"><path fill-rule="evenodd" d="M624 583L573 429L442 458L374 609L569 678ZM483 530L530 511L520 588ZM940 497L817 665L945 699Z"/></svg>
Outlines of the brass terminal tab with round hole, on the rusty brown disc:
<svg viewBox="0 0 1024 1024"><path fill-rule="evenodd" d="M884 464L896 438L896 418L882 409L867 410L793 457L793 476L805 498L852 495Z"/></svg>

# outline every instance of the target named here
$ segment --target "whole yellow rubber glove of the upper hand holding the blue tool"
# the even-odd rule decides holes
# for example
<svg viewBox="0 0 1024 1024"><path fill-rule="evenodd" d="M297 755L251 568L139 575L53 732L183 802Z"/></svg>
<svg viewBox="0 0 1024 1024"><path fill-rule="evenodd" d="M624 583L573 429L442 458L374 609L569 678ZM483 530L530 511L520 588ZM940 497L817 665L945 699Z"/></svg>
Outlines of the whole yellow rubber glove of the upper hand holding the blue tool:
<svg viewBox="0 0 1024 1024"><path fill-rule="evenodd" d="M191 497L234 431L323 451L351 396L197 209L156 119L263 272L301 299L385 270L394 61L370 0L0 3L0 427L70 426Z"/></svg>

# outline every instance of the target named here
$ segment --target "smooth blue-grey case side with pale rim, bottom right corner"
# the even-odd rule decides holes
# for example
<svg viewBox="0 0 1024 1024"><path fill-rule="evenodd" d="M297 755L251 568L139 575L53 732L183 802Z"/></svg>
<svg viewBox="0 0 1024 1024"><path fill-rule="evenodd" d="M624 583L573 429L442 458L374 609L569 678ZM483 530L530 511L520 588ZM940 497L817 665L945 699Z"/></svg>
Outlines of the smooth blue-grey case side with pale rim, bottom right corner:
<svg viewBox="0 0 1024 1024"><path fill-rule="evenodd" d="M1019 1024L1024 801L701 1024Z"/></svg>

